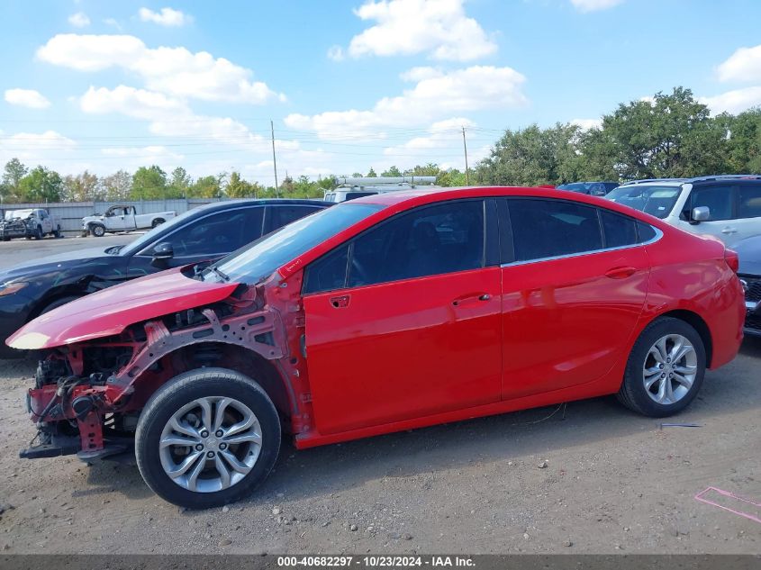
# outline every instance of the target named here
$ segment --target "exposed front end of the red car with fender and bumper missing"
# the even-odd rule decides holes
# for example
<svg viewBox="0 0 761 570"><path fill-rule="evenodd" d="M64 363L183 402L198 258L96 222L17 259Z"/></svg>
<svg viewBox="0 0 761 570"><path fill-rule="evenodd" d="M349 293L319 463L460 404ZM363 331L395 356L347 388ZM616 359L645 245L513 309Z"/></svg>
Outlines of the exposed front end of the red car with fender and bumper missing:
<svg viewBox="0 0 761 570"><path fill-rule="evenodd" d="M221 302L47 349L27 395L38 433L20 456L131 457L150 396L176 375L208 366L249 375L272 397L286 431L310 430L300 285L300 274L287 280L276 274L257 286L239 285Z"/></svg>

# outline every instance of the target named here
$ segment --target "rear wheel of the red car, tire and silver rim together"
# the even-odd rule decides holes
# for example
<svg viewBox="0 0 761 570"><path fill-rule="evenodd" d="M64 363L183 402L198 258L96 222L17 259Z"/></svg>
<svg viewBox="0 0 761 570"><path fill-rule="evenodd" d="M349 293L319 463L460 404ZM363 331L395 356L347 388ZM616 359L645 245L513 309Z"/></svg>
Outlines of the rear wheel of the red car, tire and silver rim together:
<svg viewBox="0 0 761 570"><path fill-rule="evenodd" d="M698 394L705 366L705 347L692 326L671 317L657 319L631 349L619 401L655 418L681 412Z"/></svg>

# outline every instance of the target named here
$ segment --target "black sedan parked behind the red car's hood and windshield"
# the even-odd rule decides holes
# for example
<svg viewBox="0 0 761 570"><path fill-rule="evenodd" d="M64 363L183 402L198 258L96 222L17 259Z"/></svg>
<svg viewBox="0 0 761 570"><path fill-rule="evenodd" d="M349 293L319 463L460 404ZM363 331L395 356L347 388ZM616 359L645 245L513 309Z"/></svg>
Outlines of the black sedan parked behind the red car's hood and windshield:
<svg viewBox="0 0 761 570"><path fill-rule="evenodd" d="M64 303L127 279L221 258L333 204L313 200L230 200L207 204L124 246L79 249L0 270L0 357L15 330Z"/></svg>

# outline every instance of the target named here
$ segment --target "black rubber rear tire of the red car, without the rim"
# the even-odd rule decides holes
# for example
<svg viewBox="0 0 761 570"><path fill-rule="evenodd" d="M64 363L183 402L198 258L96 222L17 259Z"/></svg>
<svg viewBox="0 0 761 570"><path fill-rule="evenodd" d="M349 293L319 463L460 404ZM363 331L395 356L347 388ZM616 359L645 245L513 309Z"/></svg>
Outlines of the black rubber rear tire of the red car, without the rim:
<svg viewBox="0 0 761 570"><path fill-rule="evenodd" d="M675 403L657 403L650 395L644 382L644 367L648 359L650 348L658 339L666 335L681 335L692 343L695 357L696 370L692 385L687 392ZM631 348L626 371L623 377L621 389L617 394L619 402L633 412L652 418L664 418L678 412L682 412L700 391L705 375L706 354L701 336L691 325L672 317L661 317L648 324L639 335L639 339Z"/></svg>

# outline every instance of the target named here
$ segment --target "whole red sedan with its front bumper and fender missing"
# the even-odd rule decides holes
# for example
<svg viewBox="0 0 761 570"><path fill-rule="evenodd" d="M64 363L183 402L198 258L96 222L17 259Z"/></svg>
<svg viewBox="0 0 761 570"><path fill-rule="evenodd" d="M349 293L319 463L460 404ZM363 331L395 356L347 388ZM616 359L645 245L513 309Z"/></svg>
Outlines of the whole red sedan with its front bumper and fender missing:
<svg viewBox="0 0 761 570"><path fill-rule="evenodd" d="M369 196L18 330L43 356L21 455L134 448L151 489L204 508L260 484L283 432L309 448L603 394L666 416L738 352L737 268L593 196Z"/></svg>

